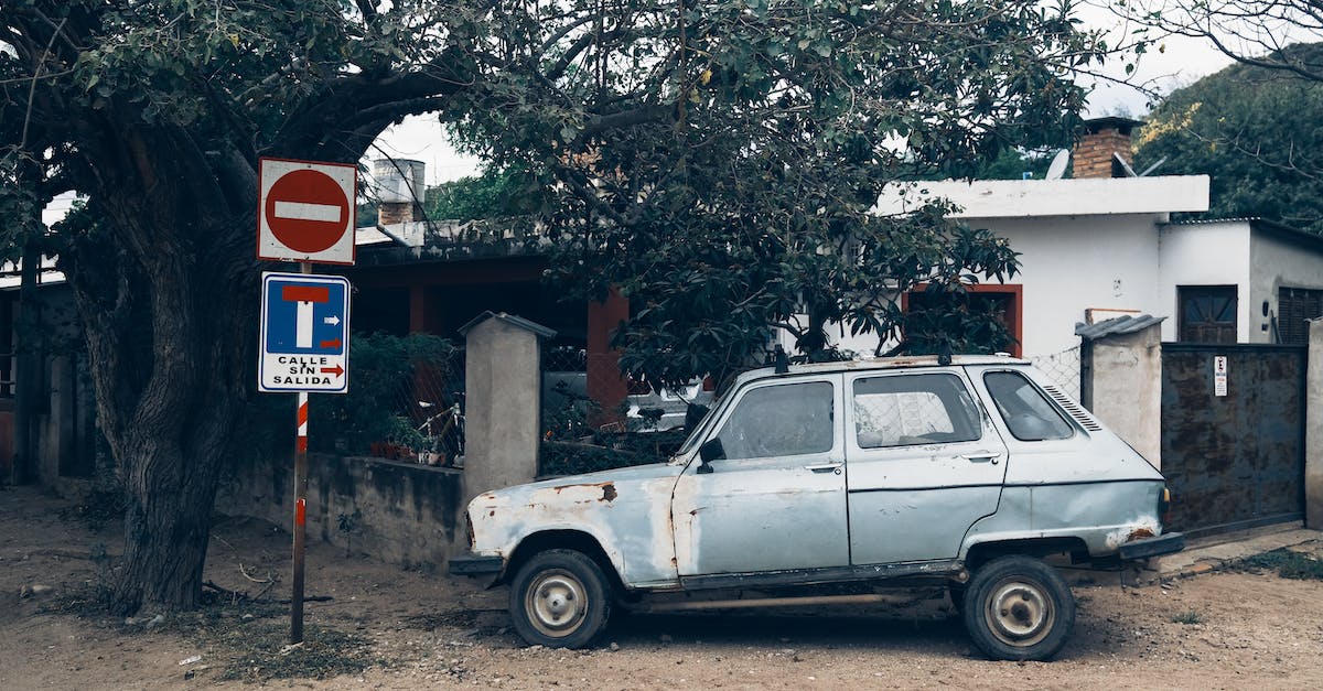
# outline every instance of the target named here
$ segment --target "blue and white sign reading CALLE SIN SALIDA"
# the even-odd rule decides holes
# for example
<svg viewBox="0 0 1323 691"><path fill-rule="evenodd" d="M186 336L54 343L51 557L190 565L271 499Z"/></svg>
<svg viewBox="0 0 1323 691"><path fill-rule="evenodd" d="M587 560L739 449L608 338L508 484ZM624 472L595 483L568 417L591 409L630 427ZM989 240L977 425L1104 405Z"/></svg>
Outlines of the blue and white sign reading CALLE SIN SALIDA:
<svg viewBox="0 0 1323 691"><path fill-rule="evenodd" d="M349 281L339 275L262 274L258 389L349 391Z"/></svg>

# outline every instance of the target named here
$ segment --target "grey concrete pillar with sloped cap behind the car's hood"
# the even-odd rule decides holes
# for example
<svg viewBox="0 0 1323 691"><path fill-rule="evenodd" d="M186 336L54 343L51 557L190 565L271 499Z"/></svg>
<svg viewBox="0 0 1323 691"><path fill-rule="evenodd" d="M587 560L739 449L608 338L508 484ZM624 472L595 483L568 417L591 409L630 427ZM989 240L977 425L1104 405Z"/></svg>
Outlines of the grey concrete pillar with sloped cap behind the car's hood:
<svg viewBox="0 0 1323 691"><path fill-rule="evenodd" d="M484 312L459 332L466 339L467 361L463 483L463 506L467 506L484 491L537 477L542 421L538 339L556 332L504 312Z"/></svg>

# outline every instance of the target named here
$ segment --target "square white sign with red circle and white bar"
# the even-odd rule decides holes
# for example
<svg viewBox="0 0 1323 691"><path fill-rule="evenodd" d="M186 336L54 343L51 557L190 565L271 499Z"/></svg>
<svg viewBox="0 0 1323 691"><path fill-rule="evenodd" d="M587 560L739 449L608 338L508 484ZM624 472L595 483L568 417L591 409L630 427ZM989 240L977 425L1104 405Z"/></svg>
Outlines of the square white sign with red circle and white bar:
<svg viewBox="0 0 1323 691"><path fill-rule="evenodd" d="M261 164L258 258L353 263L357 168L286 159Z"/></svg>

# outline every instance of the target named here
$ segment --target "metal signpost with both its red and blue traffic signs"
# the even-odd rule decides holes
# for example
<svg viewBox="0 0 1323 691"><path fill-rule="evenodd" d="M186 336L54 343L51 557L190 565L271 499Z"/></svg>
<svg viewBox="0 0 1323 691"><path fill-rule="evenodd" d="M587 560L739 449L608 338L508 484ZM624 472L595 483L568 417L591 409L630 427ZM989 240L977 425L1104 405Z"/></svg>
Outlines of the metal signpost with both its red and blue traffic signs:
<svg viewBox="0 0 1323 691"><path fill-rule="evenodd" d="M303 642L308 393L349 391L349 282L312 275L312 262L353 263L357 175L352 164L262 159L258 177L257 255L302 269L262 274L258 360L258 391L298 394L290 643Z"/></svg>

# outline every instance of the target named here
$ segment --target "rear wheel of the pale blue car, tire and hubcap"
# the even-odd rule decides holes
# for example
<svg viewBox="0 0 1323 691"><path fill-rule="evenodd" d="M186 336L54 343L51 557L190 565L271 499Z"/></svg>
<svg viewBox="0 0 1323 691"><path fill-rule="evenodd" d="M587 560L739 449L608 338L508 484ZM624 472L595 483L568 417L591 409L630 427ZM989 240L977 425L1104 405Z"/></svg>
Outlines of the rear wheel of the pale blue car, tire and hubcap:
<svg viewBox="0 0 1323 691"><path fill-rule="evenodd" d="M963 610L970 638L987 657L1046 661L1070 638L1076 602L1056 569L1016 555L974 572Z"/></svg>

